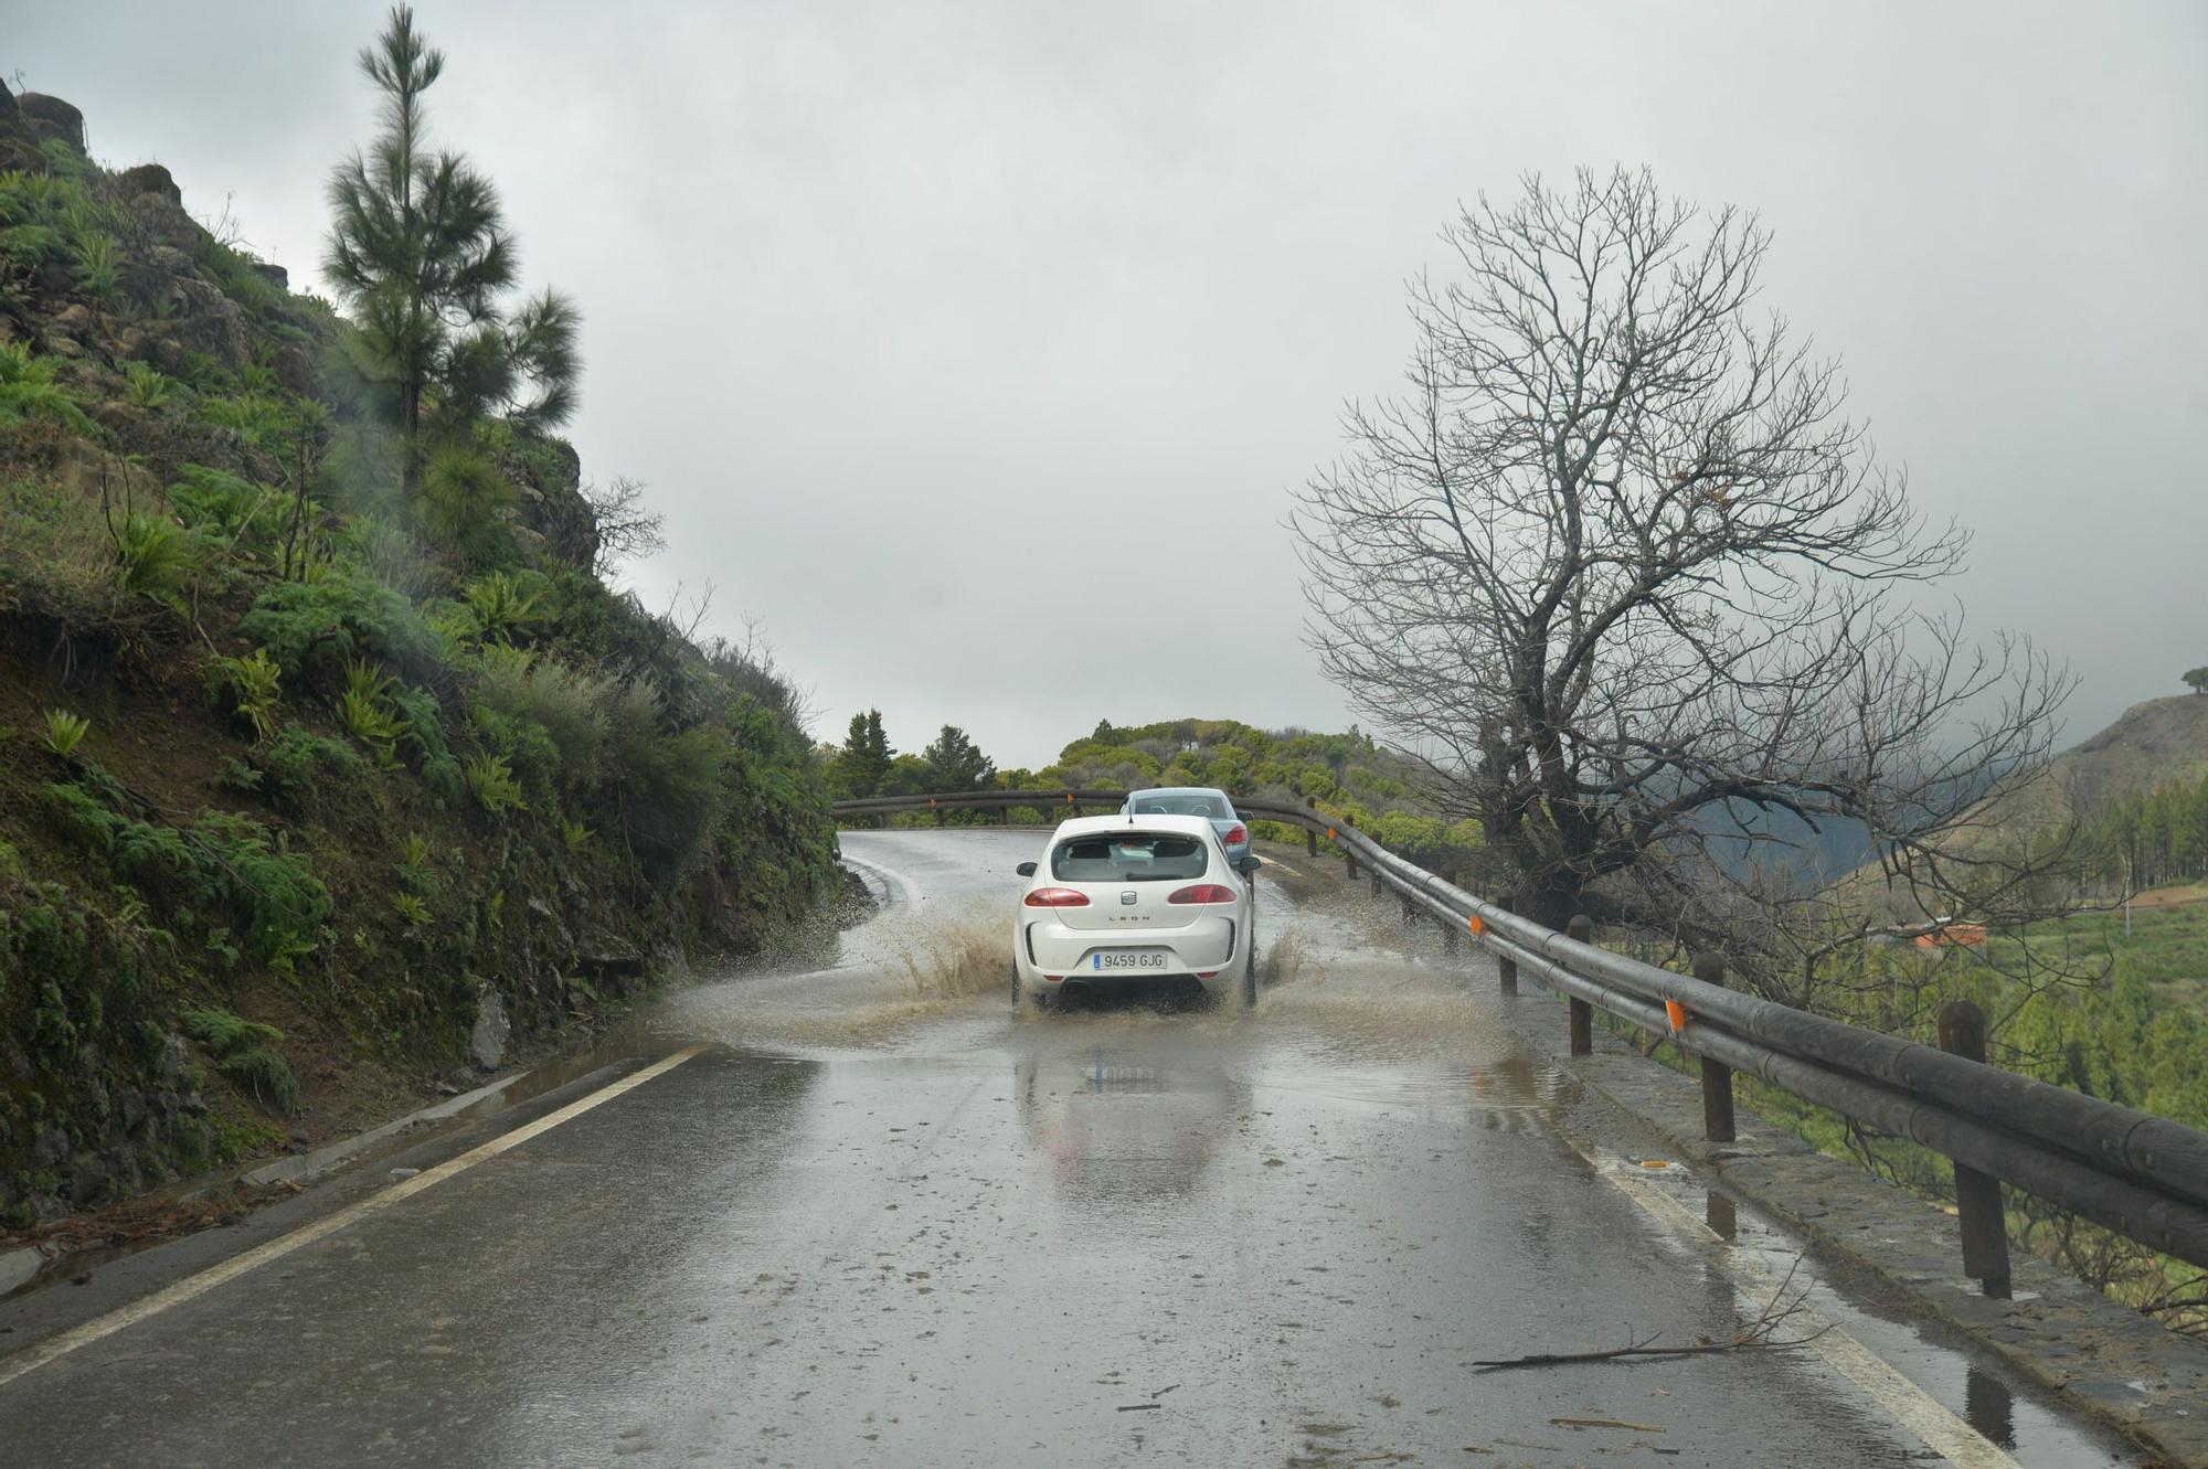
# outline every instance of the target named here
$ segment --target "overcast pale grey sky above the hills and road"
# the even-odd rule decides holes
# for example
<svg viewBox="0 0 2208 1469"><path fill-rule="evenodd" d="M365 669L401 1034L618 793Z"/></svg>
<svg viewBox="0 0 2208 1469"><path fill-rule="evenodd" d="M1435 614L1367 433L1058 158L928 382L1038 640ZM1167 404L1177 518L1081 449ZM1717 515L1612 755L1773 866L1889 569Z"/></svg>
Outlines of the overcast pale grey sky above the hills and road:
<svg viewBox="0 0 2208 1469"><path fill-rule="evenodd" d="M97 157L316 282L382 4L0 9ZM1766 300L1976 529L1972 620L2082 675L2069 739L2208 662L2204 4L417 13L437 139L585 311L585 474L667 514L631 582L762 618L821 737L1345 723L1287 496L1400 379L1455 203L1614 161L1762 212Z"/></svg>

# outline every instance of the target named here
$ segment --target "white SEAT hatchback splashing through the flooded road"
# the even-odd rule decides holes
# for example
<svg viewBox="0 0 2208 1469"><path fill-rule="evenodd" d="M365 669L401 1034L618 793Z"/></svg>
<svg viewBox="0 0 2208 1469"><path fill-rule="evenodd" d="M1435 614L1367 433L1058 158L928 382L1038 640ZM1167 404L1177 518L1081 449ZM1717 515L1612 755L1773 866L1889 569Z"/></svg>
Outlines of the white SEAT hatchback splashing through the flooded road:
<svg viewBox="0 0 2208 1469"><path fill-rule="evenodd" d="M1179 982L1217 1001L1254 975L1250 880L1201 816L1078 816L1018 873L1013 1004L1137 982Z"/></svg>

